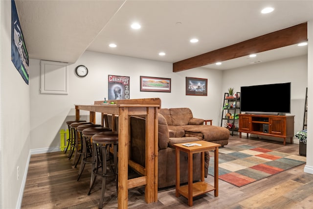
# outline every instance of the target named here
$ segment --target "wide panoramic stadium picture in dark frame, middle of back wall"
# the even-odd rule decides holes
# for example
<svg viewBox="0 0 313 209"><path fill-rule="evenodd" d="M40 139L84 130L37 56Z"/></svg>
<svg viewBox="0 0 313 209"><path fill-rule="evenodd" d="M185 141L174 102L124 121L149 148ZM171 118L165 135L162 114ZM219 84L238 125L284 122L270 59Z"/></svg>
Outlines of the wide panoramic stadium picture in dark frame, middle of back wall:
<svg viewBox="0 0 313 209"><path fill-rule="evenodd" d="M171 78L140 76L140 92L171 92Z"/></svg>

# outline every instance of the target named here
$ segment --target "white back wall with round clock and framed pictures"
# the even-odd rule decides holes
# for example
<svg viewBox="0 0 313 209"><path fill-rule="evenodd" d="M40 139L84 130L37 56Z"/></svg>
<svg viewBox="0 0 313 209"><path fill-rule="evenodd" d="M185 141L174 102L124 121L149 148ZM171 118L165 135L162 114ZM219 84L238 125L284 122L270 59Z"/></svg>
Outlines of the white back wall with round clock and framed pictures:
<svg viewBox="0 0 313 209"><path fill-rule="evenodd" d="M198 68L174 73L171 63L86 51L68 66L69 93L60 95L40 94L40 60L31 59L29 63L30 135L31 149L35 152L58 150L60 130L67 129L65 122L75 118L74 104L92 104L94 100L108 98L109 74L130 76L131 99L159 97L162 108L189 107L194 117L213 119L213 124L218 125L223 83L220 70ZM78 65L88 68L86 77L75 75ZM171 93L140 92L140 75L171 78ZM185 95L185 77L207 78L208 95ZM88 112L81 114L89 120ZM100 116L96 118L100 123Z"/></svg>

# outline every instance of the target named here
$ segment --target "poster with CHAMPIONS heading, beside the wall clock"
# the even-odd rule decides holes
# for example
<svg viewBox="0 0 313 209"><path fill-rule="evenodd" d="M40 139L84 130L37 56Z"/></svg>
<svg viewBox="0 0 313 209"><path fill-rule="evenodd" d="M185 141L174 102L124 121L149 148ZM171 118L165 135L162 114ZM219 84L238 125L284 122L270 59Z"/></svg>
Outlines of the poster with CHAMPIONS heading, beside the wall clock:
<svg viewBox="0 0 313 209"><path fill-rule="evenodd" d="M109 75L109 100L130 99L130 77Z"/></svg>

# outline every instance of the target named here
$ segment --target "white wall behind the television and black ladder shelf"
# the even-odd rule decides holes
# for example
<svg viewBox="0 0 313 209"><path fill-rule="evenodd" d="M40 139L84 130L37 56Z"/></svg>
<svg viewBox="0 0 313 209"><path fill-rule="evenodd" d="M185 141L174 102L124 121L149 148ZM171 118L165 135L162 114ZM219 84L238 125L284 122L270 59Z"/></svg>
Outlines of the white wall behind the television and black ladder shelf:
<svg viewBox="0 0 313 209"><path fill-rule="evenodd" d="M233 87L235 92L240 92L241 86L291 82L291 114L287 115L295 116L294 131L299 131L302 130L303 125L305 92L308 86L307 77L308 56L304 55L224 70L222 88L223 92L227 92L229 87Z"/></svg>

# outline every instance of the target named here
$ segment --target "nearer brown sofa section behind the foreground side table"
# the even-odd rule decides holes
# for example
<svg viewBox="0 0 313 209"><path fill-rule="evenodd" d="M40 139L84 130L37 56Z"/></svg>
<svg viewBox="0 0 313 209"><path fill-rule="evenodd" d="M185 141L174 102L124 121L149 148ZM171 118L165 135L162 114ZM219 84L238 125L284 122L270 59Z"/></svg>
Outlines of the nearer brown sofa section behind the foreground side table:
<svg viewBox="0 0 313 209"><path fill-rule="evenodd" d="M145 167L145 118L131 116L130 159ZM176 156L173 144L198 141L196 137L174 137L174 131L168 130L166 119L158 114L158 188L176 185ZM207 176L209 153L205 152L204 176ZM201 179L201 155L193 155L193 180ZM188 182L187 154L180 152L180 183Z"/></svg>

